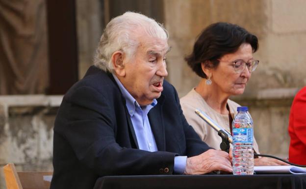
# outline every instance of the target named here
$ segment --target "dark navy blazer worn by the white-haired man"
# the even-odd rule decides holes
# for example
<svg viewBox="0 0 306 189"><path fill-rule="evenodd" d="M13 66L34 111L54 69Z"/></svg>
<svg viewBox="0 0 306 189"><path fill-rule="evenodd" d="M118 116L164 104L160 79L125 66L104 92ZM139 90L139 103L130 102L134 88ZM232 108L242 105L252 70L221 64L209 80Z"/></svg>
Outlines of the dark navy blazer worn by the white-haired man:
<svg viewBox="0 0 306 189"><path fill-rule="evenodd" d="M148 114L157 152L138 149L126 101L110 73L91 66L63 98L54 124L51 189L92 189L105 175L173 174L175 156L210 149L188 125L164 81Z"/></svg>

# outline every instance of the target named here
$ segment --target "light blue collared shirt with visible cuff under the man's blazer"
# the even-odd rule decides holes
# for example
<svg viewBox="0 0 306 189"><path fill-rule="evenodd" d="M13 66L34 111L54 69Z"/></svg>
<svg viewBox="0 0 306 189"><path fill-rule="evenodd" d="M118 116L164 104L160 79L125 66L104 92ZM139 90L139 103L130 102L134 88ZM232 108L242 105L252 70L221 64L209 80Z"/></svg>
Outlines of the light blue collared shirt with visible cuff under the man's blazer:
<svg viewBox="0 0 306 189"><path fill-rule="evenodd" d="M131 118L139 149L149 152L158 151L155 138L151 129L148 113L151 108L157 105L156 99L153 103L140 107L137 101L132 97L128 90L123 86L119 79L113 74L123 97L126 99L126 106ZM186 166L186 156L177 156L174 158L174 172L183 174Z"/></svg>

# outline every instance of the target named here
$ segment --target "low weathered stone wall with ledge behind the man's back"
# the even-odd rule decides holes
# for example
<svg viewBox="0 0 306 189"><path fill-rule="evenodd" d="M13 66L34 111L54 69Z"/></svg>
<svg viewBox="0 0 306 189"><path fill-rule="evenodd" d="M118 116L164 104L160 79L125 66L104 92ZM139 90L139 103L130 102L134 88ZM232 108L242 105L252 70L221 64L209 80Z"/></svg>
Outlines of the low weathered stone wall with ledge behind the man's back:
<svg viewBox="0 0 306 189"><path fill-rule="evenodd" d="M52 171L53 124L62 96L0 96L0 167ZM5 189L0 171L0 189Z"/></svg>

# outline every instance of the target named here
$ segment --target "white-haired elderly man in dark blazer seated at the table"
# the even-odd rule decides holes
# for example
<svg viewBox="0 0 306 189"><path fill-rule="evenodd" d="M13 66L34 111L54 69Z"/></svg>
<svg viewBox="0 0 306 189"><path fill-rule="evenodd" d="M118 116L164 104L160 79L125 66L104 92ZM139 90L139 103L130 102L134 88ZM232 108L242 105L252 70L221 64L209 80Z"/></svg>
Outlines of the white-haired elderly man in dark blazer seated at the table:
<svg viewBox="0 0 306 189"><path fill-rule="evenodd" d="M90 189L106 175L231 172L186 122L167 76L168 33L127 12L102 34L95 66L65 95L54 126L51 189Z"/></svg>

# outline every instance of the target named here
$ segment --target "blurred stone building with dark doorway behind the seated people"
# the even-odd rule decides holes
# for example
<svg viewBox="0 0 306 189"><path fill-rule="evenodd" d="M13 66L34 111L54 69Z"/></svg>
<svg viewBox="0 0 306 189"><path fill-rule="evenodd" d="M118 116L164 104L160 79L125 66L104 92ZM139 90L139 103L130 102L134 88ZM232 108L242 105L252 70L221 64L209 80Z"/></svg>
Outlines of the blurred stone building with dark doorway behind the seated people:
<svg viewBox="0 0 306 189"><path fill-rule="evenodd" d="M200 80L183 58L204 27L223 21L254 33L260 63L245 93L232 99L250 108L260 152L287 158L290 106L306 85L305 7L305 0L0 0L1 167L52 170L63 94L92 65L106 24L126 11L169 31L167 80L180 97Z"/></svg>

